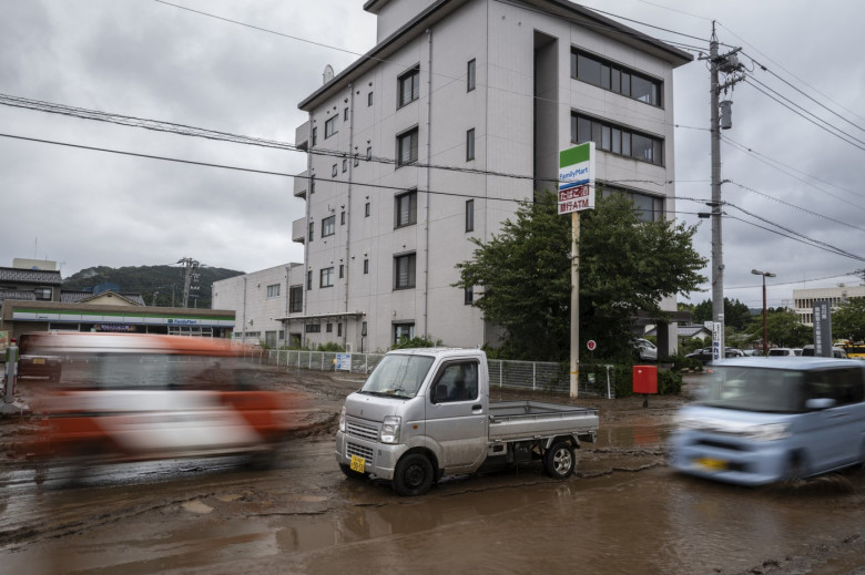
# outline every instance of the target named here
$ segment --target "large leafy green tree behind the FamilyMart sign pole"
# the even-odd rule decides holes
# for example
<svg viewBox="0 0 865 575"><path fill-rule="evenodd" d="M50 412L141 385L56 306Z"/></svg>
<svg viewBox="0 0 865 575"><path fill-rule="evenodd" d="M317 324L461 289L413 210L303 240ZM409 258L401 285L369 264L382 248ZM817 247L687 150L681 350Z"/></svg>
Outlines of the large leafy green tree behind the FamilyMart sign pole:
<svg viewBox="0 0 865 575"><path fill-rule="evenodd" d="M598 197L581 214L580 335L606 357L630 357L632 317L645 310L662 318L664 297L696 289L706 260L693 249L695 227L640 222L621 194ZM502 348L516 359L564 360L570 349L571 218L559 216L556 196L522 204L501 234L477 245L457 265L456 286L480 286L472 305L505 328Z"/></svg>

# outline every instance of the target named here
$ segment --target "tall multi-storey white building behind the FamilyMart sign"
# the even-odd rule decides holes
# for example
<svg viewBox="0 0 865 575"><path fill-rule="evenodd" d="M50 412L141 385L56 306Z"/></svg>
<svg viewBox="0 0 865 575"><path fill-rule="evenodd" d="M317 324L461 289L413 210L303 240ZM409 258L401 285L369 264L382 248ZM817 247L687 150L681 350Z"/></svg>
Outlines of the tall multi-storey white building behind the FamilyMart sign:
<svg viewBox="0 0 865 575"><path fill-rule="evenodd" d="M480 288L452 287L455 266L517 202L556 189L558 153L577 143L596 142L599 182L644 217L674 213L673 70L690 54L564 0L364 9L378 43L299 103L308 160L294 195L306 216L292 236L304 244L304 302L287 324L305 343L497 345L470 305ZM672 349L665 328L659 343Z"/></svg>

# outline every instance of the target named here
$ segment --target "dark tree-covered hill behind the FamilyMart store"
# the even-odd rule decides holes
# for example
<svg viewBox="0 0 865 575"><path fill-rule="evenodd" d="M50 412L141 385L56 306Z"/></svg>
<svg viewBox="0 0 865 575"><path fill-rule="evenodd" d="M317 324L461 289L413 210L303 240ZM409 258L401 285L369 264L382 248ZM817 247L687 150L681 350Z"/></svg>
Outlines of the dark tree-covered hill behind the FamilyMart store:
<svg viewBox="0 0 865 575"><path fill-rule="evenodd" d="M86 291L103 284L113 284L116 291L141 294L147 306L182 307L183 274L181 266L128 266L112 268L96 266L82 269L63 280L63 289ZM214 281L241 276L243 271L217 267L199 267L196 270L200 289L197 298L190 298L191 308L210 308Z"/></svg>

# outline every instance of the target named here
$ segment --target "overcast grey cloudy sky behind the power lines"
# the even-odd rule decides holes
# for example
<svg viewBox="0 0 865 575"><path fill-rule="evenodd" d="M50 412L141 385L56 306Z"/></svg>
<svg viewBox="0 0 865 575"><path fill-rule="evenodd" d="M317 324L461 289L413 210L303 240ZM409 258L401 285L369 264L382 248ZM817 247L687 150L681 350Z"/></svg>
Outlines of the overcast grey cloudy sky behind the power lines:
<svg viewBox="0 0 865 575"><path fill-rule="evenodd" d="M338 73L375 43L375 17L363 11L364 0L173 3L223 20L156 0L0 0L0 94L292 143L306 120L297 102L322 84L325 65ZM844 142L752 83L729 94L733 127L723 134L732 143L721 148L722 177L730 181L723 199L731 204L723 223L726 297L762 305L752 268L777 275L767 283L770 306L790 304L794 288L859 284L849 273L865 263L832 251L865 256L865 59L858 39L865 2L582 3L665 29L623 21L704 51L716 20L719 40L742 47L750 78L767 86L757 88L846 133ZM711 194L709 81L699 60L674 74L678 217L700 223L695 247L705 257L711 224L696 213L709 209L701 202ZM297 152L8 105L0 105L0 133L283 174L306 164ZM0 266L14 257L48 258L68 277L96 265L183 257L243 271L302 261L291 224L303 217L304 203L292 186L279 175L0 136ZM792 239L794 233L824 249ZM704 275L711 278L709 268ZM691 300L710 298L705 287Z"/></svg>

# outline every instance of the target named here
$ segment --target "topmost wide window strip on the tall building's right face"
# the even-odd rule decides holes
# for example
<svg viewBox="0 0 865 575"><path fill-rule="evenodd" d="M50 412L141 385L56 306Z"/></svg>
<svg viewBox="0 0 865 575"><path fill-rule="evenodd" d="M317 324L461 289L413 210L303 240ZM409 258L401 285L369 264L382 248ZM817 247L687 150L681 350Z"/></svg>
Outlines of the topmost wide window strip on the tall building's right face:
<svg viewBox="0 0 865 575"><path fill-rule="evenodd" d="M661 106L663 82L602 58L571 49L571 78L623 96Z"/></svg>

